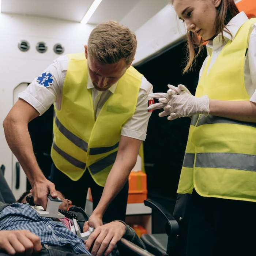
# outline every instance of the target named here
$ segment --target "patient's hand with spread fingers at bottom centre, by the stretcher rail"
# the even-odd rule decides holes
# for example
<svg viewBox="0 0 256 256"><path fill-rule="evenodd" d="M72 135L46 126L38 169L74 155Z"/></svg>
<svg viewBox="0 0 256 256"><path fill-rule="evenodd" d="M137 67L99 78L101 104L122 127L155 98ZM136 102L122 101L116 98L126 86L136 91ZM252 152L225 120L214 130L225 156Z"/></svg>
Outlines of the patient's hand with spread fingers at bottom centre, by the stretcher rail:
<svg viewBox="0 0 256 256"><path fill-rule="evenodd" d="M120 221L113 221L108 224L97 227L89 238L84 241L85 247L89 250L94 242L91 253L93 255L109 255L116 243L123 237L125 233L125 225Z"/></svg>

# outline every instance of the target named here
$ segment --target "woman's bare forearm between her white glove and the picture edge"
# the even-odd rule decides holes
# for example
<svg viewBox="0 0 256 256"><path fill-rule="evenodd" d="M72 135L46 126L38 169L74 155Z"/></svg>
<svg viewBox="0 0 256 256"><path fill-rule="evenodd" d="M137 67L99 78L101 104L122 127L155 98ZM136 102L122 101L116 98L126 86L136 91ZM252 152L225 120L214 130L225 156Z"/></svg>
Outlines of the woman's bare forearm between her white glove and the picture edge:
<svg viewBox="0 0 256 256"><path fill-rule="evenodd" d="M251 101L220 101L210 99L210 114L256 123L256 103Z"/></svg>

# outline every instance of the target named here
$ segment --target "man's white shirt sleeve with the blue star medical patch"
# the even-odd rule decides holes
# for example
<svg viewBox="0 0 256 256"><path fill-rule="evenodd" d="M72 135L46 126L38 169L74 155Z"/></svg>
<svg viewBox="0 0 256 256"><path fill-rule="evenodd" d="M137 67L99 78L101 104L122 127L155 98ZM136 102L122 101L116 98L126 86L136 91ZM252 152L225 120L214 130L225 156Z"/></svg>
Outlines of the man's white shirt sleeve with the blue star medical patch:
<svg viewBox="0 0 256 256"><path fill-rule="evenodd" d="M62 67L63 59L65 60L65 58L66 56L61 56L57 60L54 60L42 74L38 74L24 91L18 94L18 97L33 106L40 116L50 108L53 102L56 102L57 107L59 105L60 108L62 87L66 74L66 70L63 70ZM43 84L40 84L44 75L49 75L48 80ZM49 78L52 78L53 80ZM48 84L48 81L51 83Z"/></svg>

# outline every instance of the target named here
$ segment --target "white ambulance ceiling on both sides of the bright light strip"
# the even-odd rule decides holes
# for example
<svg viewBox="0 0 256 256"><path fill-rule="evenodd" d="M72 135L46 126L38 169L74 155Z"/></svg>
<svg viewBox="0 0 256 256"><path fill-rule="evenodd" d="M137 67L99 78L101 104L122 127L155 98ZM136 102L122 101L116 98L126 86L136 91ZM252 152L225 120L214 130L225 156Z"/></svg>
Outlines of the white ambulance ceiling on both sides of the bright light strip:
<svg viewBox="0 0 256 256"><path fill-rule="evenodd" d="M169 0L102 0L88 23L116 20L133 31ZM93 0L2 0L1 12L80 22Z"/></svg>

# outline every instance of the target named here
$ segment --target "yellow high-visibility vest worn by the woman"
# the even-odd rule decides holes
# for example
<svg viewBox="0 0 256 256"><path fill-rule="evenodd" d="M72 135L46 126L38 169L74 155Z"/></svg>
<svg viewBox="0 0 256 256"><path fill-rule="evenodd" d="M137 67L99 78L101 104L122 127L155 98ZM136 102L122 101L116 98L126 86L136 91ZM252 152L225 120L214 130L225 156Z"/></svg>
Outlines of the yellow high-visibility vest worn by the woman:
<svg viewBox="0 0 256 256"><path fill-rule="evenodd" d="M207 74L211 57L196 89L196 97L248 101L244 63L250 28L245 22L221 50ZM178 193L256 202L256 123L218 116L193 116Z"/></svg>

